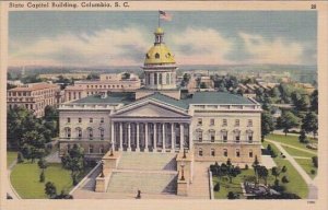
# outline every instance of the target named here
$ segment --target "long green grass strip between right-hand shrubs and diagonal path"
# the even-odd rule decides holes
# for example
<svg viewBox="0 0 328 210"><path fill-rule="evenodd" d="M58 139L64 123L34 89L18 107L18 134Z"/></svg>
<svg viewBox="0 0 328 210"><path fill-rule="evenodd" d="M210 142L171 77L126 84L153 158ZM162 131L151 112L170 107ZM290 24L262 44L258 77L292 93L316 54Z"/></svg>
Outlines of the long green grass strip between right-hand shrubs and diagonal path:
<svg viewBox="0 0 328 210"><path fill-rule="evenodd" d="M289 177L289 179L290 179L290 183L282 184L280 182L280 184L282 184L283 186L285 186L285 188L286 188L285 191L286 192L296 194L301 198L306 199L307 198L307 194L308 194L308 188L307 188L307 185L306 185L305 180L303 179L303 177L298 174L298 172L295 170L295 167L288 160L285 160L285 159L283 159L282 156L279 155L280 154L280 150L278 150L278 148L273 143L270 143L270 144L271 144L271 148L278 154L278 156L273 159L273 161L276 162L276 164L279 167L283 167L285 165L286 168L288 168L286 173L280 174L279 178L281 179L281 177L283 175L286 175ZM265 148L267 148L268 142L265 141L262 143L262 145Z"/></svg>

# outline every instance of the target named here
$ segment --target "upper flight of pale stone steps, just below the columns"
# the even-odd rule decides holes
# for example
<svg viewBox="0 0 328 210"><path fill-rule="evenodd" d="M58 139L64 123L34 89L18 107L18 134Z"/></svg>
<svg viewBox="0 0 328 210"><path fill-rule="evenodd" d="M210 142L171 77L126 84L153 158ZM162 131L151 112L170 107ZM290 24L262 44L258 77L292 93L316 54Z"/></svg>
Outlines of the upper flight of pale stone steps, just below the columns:
<svg viewBox="0 0 328 210"><path fill-rule="evenodd" d="M118 170L176 171L175 153L122 152Z"/></svg>

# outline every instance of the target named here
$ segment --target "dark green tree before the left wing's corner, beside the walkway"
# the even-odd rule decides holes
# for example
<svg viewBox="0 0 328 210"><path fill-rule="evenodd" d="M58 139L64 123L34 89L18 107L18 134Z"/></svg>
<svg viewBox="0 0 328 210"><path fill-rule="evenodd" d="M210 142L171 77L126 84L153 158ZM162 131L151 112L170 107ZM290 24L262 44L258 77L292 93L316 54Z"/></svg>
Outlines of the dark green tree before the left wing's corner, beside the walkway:
<svg viewBox="0 0 328 210"><path fill-rule="evenodd" d="M84 151L78 144L74 144L72 149L68 151L61 158L61 164L65 168L71 171L71 177L73 185L78 184L78 175L84 170Z"/></svg>

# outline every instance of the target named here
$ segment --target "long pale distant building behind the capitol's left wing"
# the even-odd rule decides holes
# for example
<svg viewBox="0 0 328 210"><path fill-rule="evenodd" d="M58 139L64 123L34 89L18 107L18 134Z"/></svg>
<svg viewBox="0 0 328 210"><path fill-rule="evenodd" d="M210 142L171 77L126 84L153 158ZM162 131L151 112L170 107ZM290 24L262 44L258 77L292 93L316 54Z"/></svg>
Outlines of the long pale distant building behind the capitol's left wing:
<svg viewBox="0 0 328 210"><path fill-rule="evenodd" d="M133 73L104 73L98 80L81 80L65 89L65 101L80 100L102 92L129 92L140 89L141 81Z"/></svg>

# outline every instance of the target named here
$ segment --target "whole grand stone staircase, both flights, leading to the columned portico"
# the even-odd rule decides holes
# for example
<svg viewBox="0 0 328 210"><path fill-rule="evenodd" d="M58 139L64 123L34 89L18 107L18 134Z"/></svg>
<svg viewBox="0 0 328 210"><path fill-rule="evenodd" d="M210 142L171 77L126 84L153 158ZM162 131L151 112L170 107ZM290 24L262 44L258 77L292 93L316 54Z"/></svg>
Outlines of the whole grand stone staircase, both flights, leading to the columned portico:
<svg viewBox="0 0 328 210"><path fill-rule="evenodd" d="M124 152L108 192L176 194L176 154Z"/></svg>

